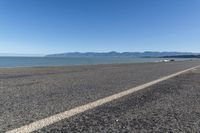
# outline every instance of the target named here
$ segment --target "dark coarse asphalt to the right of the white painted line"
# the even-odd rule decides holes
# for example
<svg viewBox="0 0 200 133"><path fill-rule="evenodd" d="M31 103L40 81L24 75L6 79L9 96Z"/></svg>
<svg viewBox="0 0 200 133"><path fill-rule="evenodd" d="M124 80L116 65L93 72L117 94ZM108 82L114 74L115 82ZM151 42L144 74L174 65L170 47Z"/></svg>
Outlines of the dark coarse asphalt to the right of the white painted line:
<svg viewBox="0 0 200 133"><path fill-rule="evenodd" d="M200 69L35 133L200 132Z"/></svg>

